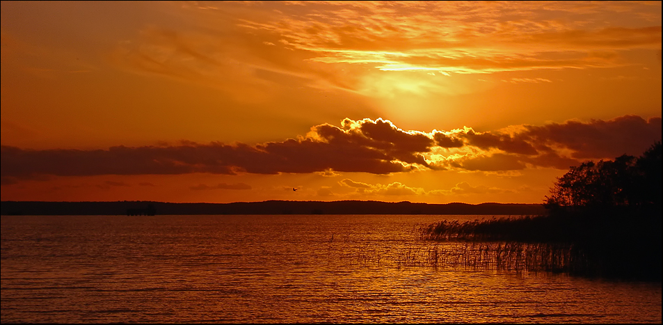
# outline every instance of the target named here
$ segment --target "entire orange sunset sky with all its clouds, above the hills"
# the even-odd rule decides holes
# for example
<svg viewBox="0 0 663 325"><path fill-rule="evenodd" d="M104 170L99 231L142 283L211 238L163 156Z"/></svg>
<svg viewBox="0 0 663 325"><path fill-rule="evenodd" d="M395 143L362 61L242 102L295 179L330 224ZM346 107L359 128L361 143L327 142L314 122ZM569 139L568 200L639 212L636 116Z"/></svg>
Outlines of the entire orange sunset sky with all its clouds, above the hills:
<svg viewBox="0 0 663 325"><path fill-rule="evenodd" d="M661 10L2 1L1 200L541 203L660 141Z"/></svg>

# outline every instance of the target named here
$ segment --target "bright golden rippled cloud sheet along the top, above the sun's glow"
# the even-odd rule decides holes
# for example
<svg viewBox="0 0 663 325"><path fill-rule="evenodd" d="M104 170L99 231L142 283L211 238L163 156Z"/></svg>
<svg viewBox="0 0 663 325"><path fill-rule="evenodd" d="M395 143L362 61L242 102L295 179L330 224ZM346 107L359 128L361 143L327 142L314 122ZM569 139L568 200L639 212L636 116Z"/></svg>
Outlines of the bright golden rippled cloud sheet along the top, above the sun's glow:
<svg viewBox="0 0 663 325"><path fill-rule="evenodd" d="M622 64L615 51L660 49L660 21L655 15L639 15L655 6L617 8L632 15L631 21L612 22L609 10L584 3L303 3L271 19L239 19L239 26L308 51L314 55L310 61L362 63L380 70L492 73L612 67ZM577 19L566 19L569 13ZM638 18L640 25L633 26Z"/></svg>

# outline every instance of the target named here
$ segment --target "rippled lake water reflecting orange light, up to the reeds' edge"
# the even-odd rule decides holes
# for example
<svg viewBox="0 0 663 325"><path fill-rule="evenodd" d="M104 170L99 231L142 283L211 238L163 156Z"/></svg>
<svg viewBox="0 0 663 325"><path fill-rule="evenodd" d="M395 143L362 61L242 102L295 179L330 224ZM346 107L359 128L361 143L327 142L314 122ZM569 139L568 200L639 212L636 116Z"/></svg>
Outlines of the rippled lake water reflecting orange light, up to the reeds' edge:
<svg viewBox="0 0 663 325"><path fill-rule="evenodd" d="M404 263L477 218L2 216L1 322L661 323L661 283Z"/></svg>

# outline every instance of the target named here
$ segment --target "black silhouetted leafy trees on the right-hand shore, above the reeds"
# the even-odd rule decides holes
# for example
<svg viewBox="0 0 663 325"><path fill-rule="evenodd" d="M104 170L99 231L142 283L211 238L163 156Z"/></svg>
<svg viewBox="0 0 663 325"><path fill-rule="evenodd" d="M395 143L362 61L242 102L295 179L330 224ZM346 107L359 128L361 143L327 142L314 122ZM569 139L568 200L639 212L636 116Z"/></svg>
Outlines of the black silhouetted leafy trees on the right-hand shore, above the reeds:
<svg viewBox="0 0 663 325"><path fill-rule="evenodd" d="M640 157L623 154L614 161L573 166L545 196L547 209L661 207L661 142Z"/></svg>

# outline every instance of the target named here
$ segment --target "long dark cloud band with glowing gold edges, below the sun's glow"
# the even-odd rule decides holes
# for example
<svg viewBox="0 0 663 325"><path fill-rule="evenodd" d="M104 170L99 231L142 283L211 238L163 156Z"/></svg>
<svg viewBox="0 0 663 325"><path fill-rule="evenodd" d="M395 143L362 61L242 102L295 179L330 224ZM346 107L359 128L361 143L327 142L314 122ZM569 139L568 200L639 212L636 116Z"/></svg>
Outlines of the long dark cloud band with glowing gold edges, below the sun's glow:
<svg viewBox="0 0 663 325"><path fill-rule="evenodd" d="M527 168L528 164L564 169L579 159L641 154L652 143L660 141L661 118L644 120L639 116L622 116L613 120L525 125L520 129L511 134L478 133L472 129L455 133L406 132L388 120L346 119L342 127L317 125L306 137L254 146L184 143L135 148L117 146L108 150L26 150L3 145L0 176L2 184L11 184L44 175L325 171L388 174L447 166L470 171L507 171ZM435 148L466 150L466 154L444 163L426 159Z"/></svg>

